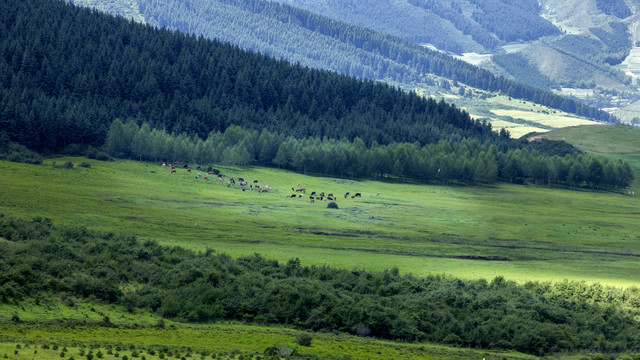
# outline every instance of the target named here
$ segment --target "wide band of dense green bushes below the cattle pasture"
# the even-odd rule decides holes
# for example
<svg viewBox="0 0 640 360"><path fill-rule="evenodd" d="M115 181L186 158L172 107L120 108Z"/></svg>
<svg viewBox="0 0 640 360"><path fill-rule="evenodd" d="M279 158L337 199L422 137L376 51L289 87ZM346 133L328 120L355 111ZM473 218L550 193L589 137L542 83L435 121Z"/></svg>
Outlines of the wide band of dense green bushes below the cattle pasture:
<svg viewBox="0 0 640 360"><path fill-rule="evenodd" d="M632 351L640 342L634 287L233 259L1 214L0 237L0 303L80 298L177 321L284 324L536 355Z"/></svg>

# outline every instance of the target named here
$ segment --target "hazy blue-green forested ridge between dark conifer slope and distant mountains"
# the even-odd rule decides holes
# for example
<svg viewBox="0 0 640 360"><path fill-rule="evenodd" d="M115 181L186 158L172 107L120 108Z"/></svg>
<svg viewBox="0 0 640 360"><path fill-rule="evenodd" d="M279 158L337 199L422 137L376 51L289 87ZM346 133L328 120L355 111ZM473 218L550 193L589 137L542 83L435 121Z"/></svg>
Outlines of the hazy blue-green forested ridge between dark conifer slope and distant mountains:
<svg viewBox="0 0 640 360"><path fill-rule="evenodd" d="M86 4L82 0L76 2ZM548 91L498 78L490 71L410 41L276 2L139 0L138 3L141 16L149 24L229 41L312 68L392 82L409 89L435 88L456 96L460 89L452 89L449 83L458 86L460 82L569 113L611 120L604 112Z"/></svg>

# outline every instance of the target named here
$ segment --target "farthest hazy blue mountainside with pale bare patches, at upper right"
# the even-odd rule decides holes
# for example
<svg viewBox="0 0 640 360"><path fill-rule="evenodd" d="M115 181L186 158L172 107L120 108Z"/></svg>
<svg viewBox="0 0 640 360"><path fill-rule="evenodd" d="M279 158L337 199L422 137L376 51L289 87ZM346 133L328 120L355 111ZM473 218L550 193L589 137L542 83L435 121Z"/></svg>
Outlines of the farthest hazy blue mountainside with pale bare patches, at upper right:
<svg viewBox="0 0 640 360"><path fill-rule="evenodd" d="M280 2L431 44L496 74L566 96L573 96L573 89L589 90L591 95L581 99L592 106L618 108L639 100L637 75L627 71L625 60L637 39L632 15L638 4L633 1Z"/></svg>

